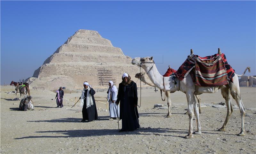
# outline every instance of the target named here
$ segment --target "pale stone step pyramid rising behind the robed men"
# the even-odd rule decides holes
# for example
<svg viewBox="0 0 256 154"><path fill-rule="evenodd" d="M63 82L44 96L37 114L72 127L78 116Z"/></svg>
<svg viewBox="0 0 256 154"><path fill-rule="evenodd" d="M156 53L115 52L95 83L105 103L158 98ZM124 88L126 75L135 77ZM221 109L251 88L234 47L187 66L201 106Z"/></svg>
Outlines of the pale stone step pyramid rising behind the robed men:
<svg viewBox="0 0 256 154"><path fill-rule="evenodd" d="M28 82L45 89L81 89L84 81L103 88L112 80L118 86L124 72L137 81L134 76L140 69L131 61L97 31L80 29L35 70Z"/></svg>

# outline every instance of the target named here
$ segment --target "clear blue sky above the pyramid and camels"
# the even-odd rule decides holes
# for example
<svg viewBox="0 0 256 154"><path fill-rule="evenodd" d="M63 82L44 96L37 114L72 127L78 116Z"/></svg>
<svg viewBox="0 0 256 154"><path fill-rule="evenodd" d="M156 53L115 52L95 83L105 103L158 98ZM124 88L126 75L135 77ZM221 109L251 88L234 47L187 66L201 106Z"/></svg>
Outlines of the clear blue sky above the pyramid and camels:
<svg viewBox="0 0 256 154"><path fill-rule="evenodd" d="M255 1L0 1L1 85L31 77L78 29L96 30L124 54L178 67L190 49L226 54L256 75ZM162 57L163 60L162 60ZM162 63L162 64L161 64Z"/></svg>

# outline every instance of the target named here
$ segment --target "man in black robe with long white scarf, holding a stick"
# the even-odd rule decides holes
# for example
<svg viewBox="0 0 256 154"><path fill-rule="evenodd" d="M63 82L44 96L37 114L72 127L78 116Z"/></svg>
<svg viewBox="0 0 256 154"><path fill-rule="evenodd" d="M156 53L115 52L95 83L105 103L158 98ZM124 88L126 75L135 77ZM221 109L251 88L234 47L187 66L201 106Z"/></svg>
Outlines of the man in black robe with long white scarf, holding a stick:
<svg viewBox="0 0 256 154"><path fill-rule="evenodd" d="M89 90L89 92L88 92ZM98 119L98 113L97 113L97 108L96 108L96 104L95 104L95 99L94 99L94 95L95 91L92 89L92 87L89 85L88 82L84 82L84 89L82 91L82 95L79 99L81 99L81 101L83 102L83 110L82 110L82 114L83 114L83 119L80 122L86 122L86 120L88 120L88 122L93 121ZM91 97L91 98L90 98ZM89 99L87 101L87 99ZM90 101L91 100L91 101Z"/></svg>

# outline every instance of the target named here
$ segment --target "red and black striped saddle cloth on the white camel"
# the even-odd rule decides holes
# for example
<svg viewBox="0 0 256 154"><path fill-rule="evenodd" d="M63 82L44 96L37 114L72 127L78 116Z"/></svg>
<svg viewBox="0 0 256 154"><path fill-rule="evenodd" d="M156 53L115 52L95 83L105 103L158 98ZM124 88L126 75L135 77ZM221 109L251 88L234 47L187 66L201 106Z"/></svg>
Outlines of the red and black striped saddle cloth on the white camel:
<svg viewBox="0 0 256 154"><path fill-rule="evenodd" d="M195 76L196 86L214 87L226 85L232 81L235 70L228 64L223 53L207 57L189 55L175 75L179 80L183 80L188 73L193 73L192 79Z"/></svg>

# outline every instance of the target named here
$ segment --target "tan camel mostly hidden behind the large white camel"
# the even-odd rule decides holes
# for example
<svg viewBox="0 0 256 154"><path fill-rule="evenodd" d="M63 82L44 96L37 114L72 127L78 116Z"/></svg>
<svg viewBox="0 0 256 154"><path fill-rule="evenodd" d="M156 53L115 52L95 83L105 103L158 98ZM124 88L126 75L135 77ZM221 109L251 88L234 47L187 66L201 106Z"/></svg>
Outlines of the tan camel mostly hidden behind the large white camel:
<svg viewBox="0 0 256 154"><path fill-rule="evenodd" d="M148 77L148 75L146 75L146 73L143 73L143 74L142 73L137 73L137 74L135 74L135 78L140 79L142 82L148 84L149 86L155 87L154 83L149 79L149 77ZM167 97L167 105L168 105L168 114L166 115L166 117L171 117L172 111L171 111L170 93L173 93L173 91L165 91L164 93L165 93L165 96ZM201 99L198 95L195 95L195 96L196 96L197 102L199 104L199 113L201 113L201 107L200 107L200 100ZM188 113L188 111L185 114L187 114L187 113Z"/></svg>

